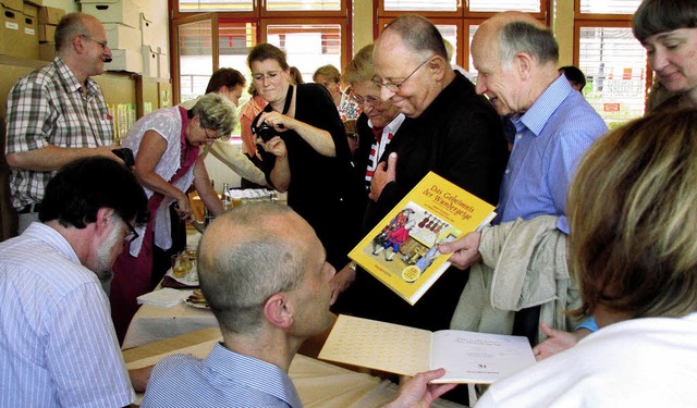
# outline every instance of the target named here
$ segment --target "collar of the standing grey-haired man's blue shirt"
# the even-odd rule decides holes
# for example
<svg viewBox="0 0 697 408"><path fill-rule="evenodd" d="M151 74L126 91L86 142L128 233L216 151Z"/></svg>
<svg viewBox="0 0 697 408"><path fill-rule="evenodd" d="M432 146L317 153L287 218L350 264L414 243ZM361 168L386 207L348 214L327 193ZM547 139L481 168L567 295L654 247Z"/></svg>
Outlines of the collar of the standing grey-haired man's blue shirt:
<svg viewBox="0 0 697 408"><path fill-rule="evenodd" d="M511 121L515 125L516 132L522 132L526 127L538 136L549 118L557 111L560 104L568 97L571 92L576 90L571 87L564 75L560 75L550 86L545 89L542 95L533 103L524 114L514 115Z"/></svg>

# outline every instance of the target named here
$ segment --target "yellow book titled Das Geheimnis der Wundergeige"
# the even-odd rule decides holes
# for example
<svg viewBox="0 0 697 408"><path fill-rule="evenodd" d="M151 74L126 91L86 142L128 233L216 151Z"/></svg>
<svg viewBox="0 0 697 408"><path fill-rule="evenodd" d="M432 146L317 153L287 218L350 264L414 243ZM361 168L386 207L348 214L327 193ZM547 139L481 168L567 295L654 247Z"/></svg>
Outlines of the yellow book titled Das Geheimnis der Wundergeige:
<svg viewBox="0 0 697 408"><path fill-rule="evenodd" d="M429 172L348 254L409 305L450 265L438 244L488 224L494 207Z"/></svg>

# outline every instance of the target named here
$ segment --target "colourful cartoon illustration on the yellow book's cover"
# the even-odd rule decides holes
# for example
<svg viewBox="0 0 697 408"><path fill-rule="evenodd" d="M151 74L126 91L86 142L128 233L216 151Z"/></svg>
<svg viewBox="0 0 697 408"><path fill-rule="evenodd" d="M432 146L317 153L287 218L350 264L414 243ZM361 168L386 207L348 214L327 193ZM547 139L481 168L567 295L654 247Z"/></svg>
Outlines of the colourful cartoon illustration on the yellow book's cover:
<svg viewBox="0 0 697 408"><path fill-rule="evenodd" d="M455 240L460 231L409 201L372 239L372 257L405 282L415 282L441 254L438 244ZM398 256L399 255L399 256Z"/></svg>

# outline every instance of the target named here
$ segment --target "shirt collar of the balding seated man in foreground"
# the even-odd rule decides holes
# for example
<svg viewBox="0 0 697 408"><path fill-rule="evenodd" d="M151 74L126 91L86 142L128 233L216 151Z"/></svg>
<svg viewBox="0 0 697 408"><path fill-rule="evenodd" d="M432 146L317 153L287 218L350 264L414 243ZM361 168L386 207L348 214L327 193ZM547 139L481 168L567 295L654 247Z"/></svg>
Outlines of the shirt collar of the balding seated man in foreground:
<svg viewBox="0 0 697 408"><path fill-rule="evenodd" d="M293 408L303 407L291 378L277 366L234 353L220 343L206 357L204 366L245 386L272 395Z"/></svg>

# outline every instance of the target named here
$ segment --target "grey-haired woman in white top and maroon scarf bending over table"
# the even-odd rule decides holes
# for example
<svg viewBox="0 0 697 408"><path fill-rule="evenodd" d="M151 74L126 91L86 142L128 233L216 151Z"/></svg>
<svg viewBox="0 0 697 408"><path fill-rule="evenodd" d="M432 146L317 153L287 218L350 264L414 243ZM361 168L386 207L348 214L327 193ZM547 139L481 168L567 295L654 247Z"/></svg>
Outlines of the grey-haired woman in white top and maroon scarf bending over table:
<svg viewBox="0 0 697 408"><path fill-rule="evenodd" d="M193 185L215 215L223 212L199 153L203 146L230 135L236 123L232 102L207 94L189 110L171 107L143 116L121 141L135 153L134 173L148 196L150 221L145 231L136 231L138 237L113 264L111 316L120 342L138 308L136 297L151 290L151 274L170 267L169 257L154 261L158 251L172 246L170 205L182 220L189 220L193 209L186 190Z"/></svg>

